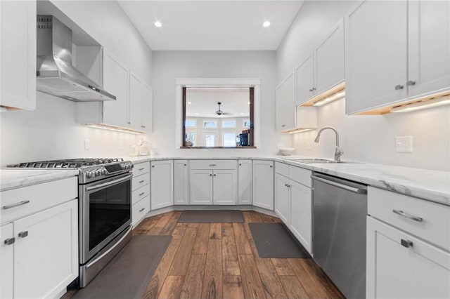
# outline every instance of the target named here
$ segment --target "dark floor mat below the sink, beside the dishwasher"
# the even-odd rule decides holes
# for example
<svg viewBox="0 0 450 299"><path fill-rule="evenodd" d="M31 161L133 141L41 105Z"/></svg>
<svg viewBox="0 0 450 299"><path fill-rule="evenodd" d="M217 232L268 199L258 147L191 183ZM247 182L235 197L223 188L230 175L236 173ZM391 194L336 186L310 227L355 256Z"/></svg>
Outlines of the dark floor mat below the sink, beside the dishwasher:
<svg viewBox="0 0 450 299"><path fill-rule="evenodd" d="M311 258L281 223L249 223L259 258Z"/></svg>

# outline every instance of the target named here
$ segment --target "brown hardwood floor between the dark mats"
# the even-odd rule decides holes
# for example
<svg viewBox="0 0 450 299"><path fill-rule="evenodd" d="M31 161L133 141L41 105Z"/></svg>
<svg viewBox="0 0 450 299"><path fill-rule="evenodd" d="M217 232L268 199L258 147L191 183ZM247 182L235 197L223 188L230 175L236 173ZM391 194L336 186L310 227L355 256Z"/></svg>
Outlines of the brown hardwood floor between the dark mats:
<svg viewBox="0 0 450 299"><path fill-rule="evenodd" d="M134 234L172 235L144 298L344 298L312 259L259 258L249 222L177 223L174 211L144 219Z"/></svg>

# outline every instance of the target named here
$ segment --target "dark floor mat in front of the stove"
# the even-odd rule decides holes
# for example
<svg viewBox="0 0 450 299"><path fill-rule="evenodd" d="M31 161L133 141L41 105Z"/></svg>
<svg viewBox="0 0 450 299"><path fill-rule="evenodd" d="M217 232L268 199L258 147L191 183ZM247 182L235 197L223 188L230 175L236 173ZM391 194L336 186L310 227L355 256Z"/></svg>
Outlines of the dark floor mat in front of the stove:
<svg viewBox="0 0 450 299"><path fill-rule="evenodd" d="M141 298L171 239L172 236L134 236L72 298Z"/></svg>

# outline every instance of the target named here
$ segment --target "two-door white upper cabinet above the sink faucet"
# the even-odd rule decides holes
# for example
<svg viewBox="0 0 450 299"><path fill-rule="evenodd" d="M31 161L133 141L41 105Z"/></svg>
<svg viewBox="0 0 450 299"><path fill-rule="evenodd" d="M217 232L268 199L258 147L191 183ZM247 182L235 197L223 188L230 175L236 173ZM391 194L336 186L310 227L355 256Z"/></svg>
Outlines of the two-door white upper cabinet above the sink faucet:
<svg viewBox="0 0 450 299"><path fill-rule="evenodd" d="M314 48L314 53L295 69L295 105L301 105L344 81L344 65L344 22L340 20Z"/></svg>

